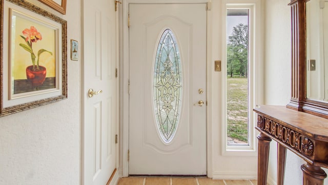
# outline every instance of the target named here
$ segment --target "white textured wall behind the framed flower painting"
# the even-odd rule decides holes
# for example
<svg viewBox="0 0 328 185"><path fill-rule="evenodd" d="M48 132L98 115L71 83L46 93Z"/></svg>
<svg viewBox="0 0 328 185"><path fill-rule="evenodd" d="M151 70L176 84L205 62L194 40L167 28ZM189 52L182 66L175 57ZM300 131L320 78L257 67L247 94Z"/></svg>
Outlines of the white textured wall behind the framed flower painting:
<svg viewBox="0 0 328 185"><path fill-rule="evenodd" d="M70 39L81 43L80 0L68 0L68 99L0 118L0 184L80 184L81 60L70 60Z"/></svg>

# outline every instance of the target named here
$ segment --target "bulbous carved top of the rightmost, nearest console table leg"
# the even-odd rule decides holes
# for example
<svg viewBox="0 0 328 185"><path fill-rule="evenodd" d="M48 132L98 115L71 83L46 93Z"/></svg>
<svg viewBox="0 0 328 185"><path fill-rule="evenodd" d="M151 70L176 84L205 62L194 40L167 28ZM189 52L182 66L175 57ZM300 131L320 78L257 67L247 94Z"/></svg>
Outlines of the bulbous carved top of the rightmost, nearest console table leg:
<svg viewBox="0 0 328 185"><path fill-rule="evenodd" d="M301 166L303 171L303 185L323 185L327 174L320 168L306 163Z"/></svg>

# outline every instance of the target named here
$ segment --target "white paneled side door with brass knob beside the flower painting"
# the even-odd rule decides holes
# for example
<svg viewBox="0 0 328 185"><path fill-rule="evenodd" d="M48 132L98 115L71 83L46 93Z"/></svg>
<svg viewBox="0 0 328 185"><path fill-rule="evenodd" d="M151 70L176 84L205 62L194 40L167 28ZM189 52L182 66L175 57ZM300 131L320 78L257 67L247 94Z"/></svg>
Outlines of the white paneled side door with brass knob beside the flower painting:
<svg viewBox="0 0 328 185"><path fill-rule="evenodd" d="M104 185L116 168L116 13L108 0L83 8L83 184Z"/></svg>

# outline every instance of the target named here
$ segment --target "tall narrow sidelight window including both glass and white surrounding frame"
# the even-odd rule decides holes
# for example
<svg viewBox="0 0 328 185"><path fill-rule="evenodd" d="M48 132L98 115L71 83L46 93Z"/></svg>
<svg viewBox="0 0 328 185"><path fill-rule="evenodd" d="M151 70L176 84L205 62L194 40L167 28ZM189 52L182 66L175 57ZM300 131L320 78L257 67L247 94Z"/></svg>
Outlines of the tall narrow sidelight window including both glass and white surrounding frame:
<svg viewBox="0 0 328 185"><path fill-rule="evenodd" d="M256 155L253 109L262 102L263 79L260 11L255 11L260 6L237 2L227 4L222 30L222 151L224 155Z"/></svg>

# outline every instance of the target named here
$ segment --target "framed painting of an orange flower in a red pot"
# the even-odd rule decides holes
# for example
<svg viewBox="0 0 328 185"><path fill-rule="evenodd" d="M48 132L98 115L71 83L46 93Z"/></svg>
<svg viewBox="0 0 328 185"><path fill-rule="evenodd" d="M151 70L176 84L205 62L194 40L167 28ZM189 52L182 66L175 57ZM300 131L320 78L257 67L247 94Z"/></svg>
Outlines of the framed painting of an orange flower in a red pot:
<svg viewBox="0 0 328 185"><path fill-rule="evenodd" d="M25 1L0 4L0 117L66 99L66 20Z"/></svg>

